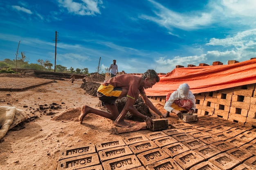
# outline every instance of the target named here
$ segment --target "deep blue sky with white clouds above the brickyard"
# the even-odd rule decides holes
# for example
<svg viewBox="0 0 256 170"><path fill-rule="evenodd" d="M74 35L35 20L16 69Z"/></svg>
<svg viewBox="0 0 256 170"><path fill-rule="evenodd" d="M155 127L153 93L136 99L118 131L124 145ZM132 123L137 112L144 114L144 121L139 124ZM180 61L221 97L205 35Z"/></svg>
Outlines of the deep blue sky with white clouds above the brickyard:
<svg viewBox="0 0 256 170"><path fill-rule="evenodd" d="M0 60L25 52L29 63L119 72L171 72L256 57L255 0L0 1ZM19 57L19 56L18 56ZM53 67L54 69L54 67Z"/></svg>

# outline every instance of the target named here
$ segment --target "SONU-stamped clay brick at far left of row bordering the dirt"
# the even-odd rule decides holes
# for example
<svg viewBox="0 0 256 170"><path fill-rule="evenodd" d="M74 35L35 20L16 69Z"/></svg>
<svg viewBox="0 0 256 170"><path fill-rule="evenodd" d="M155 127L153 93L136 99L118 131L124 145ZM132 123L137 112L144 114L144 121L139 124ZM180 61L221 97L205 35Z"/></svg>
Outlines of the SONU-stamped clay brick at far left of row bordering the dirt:
<svg viewBox="0 0 256 170"><path fill-rule="evenodd" d="M93 144L88 144L85 146L76 146L73 148L68 148L68 149L62 149L60 151L60 155L58 157L59 160L61 159L66 159L70 157L76 157L84 154L91 154L95 153L96 149Z"/></svg>

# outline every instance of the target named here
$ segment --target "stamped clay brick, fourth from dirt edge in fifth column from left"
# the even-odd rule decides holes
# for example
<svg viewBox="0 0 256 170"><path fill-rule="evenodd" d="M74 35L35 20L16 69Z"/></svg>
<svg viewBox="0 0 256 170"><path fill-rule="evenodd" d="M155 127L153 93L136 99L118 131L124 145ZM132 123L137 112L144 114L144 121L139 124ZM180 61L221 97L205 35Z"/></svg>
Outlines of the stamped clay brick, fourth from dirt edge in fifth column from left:
<svg viewBox="0 0 256 170"><path fill-rule="evenodd" d="M220 154L221 151L216 149L216 148L213 148L212 146L210 145L205 145L205 146L202 146L200 148L197 148L194 150L196 153L200 154L204 159L208 160L210 159L211 157L214 157L216 156L217 154Z"/></svg>

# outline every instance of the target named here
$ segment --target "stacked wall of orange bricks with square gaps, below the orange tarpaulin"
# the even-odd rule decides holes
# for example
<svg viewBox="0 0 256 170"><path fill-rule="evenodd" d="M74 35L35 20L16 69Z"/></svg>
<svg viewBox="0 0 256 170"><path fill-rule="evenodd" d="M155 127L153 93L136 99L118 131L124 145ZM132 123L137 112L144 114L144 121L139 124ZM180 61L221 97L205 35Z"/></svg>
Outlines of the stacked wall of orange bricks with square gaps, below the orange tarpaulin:
<svg viewBox="0 0 256 170"><path fill-rule="evenodd" d="M196 112L256 127L255 84L195 94Z"/></svg>

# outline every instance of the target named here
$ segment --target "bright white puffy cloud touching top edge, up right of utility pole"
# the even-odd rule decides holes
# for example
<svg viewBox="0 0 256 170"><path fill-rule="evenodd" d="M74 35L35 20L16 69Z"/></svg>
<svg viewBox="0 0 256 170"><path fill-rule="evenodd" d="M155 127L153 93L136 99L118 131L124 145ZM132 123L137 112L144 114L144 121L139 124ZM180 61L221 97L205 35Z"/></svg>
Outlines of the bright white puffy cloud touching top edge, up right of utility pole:
<svg viewBox="0 0 256 170"><path fill-rule="evenodd" d="M85 16L101 13L98 7L99 4L102 4L101 0L82 0L80 3L73 0L58 0L58 2L61 7L76 15Z"/></svg>

